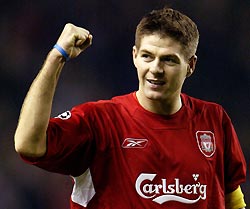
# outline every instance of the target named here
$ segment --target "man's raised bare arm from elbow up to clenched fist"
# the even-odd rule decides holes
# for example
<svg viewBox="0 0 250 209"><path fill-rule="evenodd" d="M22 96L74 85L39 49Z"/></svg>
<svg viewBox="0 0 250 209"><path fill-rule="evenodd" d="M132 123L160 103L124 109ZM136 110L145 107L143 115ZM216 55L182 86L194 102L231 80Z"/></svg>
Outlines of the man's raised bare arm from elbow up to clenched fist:
<svg viewBox="0 0 250 209"><path fill-rule="evenodd" d="M91 43L89 31L73 24L65 25L57 41L69 58L77 57ZM64 64L65 57L53 48L25 97L14 137L15 149L22 155L40 157L46 152L46 130L52 100Z"/></svg>

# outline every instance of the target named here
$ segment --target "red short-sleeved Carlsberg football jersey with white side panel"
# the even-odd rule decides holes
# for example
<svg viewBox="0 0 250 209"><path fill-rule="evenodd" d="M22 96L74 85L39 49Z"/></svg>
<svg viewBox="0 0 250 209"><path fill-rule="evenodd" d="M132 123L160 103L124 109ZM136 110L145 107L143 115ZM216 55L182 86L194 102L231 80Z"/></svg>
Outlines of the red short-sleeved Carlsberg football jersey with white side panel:
<svg viewBox="0 0 250 209"><path fill-rule="evenodd" d="M223 108L185 94L148 112L135 93L89 102L50 120L47 153L28 160L73 177L72 209L224 209L246 163Z"/></svg>

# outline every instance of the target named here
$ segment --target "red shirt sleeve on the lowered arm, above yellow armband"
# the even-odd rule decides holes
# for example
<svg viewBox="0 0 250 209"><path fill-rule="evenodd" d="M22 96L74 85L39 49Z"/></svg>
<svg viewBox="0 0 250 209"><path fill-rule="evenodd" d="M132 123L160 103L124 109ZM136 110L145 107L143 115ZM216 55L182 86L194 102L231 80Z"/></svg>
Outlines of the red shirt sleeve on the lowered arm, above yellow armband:
<svg viewBox="0 0 250 209"><path fill-rule="evenodd" d="M225 193L231 193L246 181L246 161L232 122L224 111L225 133Z"/></svg>

